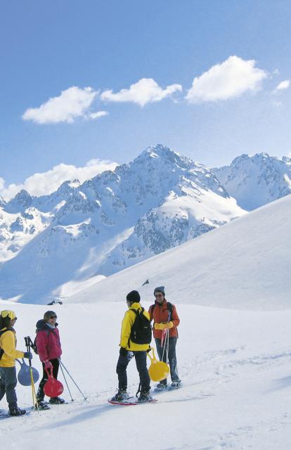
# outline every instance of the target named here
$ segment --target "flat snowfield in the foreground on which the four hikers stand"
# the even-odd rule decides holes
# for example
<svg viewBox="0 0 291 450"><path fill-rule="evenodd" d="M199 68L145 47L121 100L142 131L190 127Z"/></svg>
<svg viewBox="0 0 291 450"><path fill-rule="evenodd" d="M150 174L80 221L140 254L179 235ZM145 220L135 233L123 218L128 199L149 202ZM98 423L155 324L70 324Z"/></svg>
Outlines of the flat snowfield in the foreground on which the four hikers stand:
<svg viewBox="0 0 291 450"><path fill-rule="evenodd" d="M157 404L108 404L117 387L125 302L58 305L63 364L88 400L82 401L70 383L73 404L0 419L2 444L9 450L289 450L291 311L199 307L184 304L170 291L169 300L176 302L181 318L181 390L157 394ZM34 323L46 307L9 307L18 316L18 348L23 349L23 336L33 336ZM40 367L37 356L33 366ZM128 375L129 392L135 394L134 361ZM59 378L63 380L61 374ZM18 385L17 392L20 406L29 407L30 387ZM70 399L67 390L63 397ZM0 408L6 409L5 399Z"/></svg>

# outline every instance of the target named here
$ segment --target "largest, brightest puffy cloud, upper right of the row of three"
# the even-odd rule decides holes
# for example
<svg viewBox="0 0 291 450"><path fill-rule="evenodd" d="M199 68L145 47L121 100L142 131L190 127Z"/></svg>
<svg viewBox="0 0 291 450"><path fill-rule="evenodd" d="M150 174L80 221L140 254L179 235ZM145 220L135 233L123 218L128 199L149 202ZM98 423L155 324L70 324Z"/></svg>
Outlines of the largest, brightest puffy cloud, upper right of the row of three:
<svg viewBox="0 0 291 450"><path fill-rule="evenodd" d="M267 72L255 68L256 61L230 56L193 79L186 99L189 103L227 100L246 91L257 91Z"/></svg>

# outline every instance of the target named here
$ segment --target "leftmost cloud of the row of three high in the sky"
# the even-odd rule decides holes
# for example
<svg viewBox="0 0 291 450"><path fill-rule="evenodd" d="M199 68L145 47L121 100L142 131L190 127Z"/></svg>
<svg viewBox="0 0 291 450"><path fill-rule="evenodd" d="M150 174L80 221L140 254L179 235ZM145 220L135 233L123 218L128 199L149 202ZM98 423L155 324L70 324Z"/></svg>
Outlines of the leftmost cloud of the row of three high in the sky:
<svg viewBox="0 0 291 450"><path fill-rule="evenodd" d="M72 123L77 117L86 117L97 95L98 92L91 87L80 89L72 86L62 91L60 96L50 98L39 108L29 108L22 115L22 119L38 124Z"/></svg>

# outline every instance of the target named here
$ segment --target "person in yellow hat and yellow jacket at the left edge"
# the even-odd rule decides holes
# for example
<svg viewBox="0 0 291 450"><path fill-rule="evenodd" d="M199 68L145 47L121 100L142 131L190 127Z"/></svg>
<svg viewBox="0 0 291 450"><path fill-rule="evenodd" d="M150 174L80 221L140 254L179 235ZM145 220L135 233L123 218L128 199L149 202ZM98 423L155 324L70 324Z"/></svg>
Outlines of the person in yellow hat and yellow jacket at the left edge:
<svg viewBox="0 0 291 450"><path fill-rule="evenodd" d="M15 359L32 359L30 352L16 349L16 333L13 328L17 317L14 311L1 311L0 314L0 400L6 394L11 416L22 416L25 409L18 408L15 387L17 385Z"/></svg>

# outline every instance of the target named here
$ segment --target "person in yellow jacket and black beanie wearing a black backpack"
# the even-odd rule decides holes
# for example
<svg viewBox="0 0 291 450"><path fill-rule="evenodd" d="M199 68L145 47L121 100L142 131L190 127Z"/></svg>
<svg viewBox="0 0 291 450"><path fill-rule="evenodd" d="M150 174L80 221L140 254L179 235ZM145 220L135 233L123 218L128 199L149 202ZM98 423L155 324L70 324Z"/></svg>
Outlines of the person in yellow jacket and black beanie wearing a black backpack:
<svg viewBox="0 0 291 450"><path fill-rule="evenodd" d="M138 397L138 401L149 401L152 399L150 396L150 376L148 375L148 368L146 366L147 350L150 346L149 344L137 344L131 340L131 328L136 320L135 311L139 312L142 309L140 300L141 297L137 290L131 290L127 294L127 307L129 309L124 314L124 319L122 320L119 359L116 368L118 392L112 397L112 401L125 401L129 398L127 394L127 366L133 357L136 360L136 368L139 373L141 387L141 395ZM143 311L143 314L149 321L150 315L148 311Z"/></svg>

